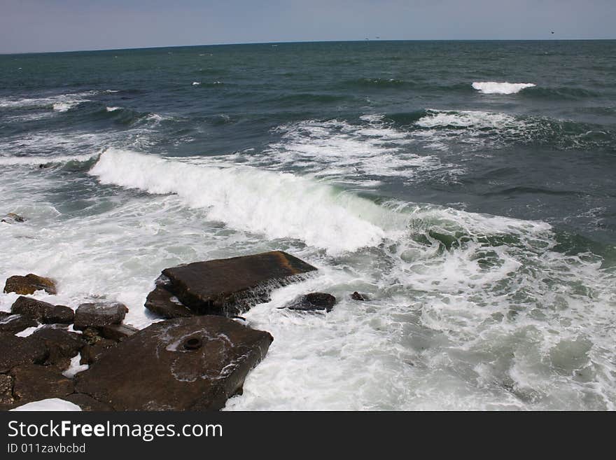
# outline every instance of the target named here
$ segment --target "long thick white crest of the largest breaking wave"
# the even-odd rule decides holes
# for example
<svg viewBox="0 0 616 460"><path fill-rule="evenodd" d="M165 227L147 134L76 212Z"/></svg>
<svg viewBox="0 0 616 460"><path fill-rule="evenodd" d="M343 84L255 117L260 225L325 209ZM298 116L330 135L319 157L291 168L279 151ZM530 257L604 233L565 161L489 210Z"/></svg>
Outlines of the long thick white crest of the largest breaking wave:
<svg viewBox="0 0 616 460"><path fill-rule="evenodd" d="M328 253L375 246L391 211L318 181L253 167L214 167L110 148L90 170L101 183L179 195L208 218Z"/></svg>

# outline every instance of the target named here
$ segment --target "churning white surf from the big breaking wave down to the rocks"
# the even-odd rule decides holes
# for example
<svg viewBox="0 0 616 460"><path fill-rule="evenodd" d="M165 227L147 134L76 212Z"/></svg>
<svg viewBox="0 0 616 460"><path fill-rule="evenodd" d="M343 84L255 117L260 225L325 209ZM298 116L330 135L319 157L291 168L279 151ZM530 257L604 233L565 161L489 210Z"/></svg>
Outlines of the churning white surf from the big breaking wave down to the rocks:
<svg viewBox="0 0 616 460"><path fill-rule="evenodd" d="M272 249L318 267L244 315L274 342L229 410L615 408L616 274L594 254L556 251L546 223L377 205L209 158L109 149L90 174L79 179L99 189L87 214L49 211L35 190L66 180L53 170L15 169L22 185L1 184L0 207L20 202L28 221L0 225L0 272L57 280L58 295L36 298L117 300L144 327L165 267ZM339 303L278 309L311 291ZM0 294L0 309L17 297Z"/></svg>

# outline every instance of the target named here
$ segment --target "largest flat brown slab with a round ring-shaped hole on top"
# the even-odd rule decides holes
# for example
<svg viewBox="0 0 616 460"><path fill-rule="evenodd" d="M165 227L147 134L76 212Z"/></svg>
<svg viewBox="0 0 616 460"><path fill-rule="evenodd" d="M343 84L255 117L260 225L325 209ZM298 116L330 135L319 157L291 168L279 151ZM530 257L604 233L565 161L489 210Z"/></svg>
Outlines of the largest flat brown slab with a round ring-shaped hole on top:
<svg viewBox="0 0 616 460"><path fill-rule="evenodd" d="M80 372L77 391L114 410L218 410L272 340L223 316L153 323Z"/></svg>

